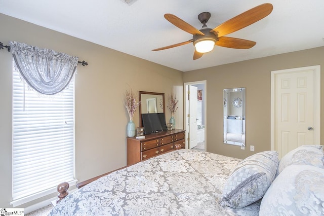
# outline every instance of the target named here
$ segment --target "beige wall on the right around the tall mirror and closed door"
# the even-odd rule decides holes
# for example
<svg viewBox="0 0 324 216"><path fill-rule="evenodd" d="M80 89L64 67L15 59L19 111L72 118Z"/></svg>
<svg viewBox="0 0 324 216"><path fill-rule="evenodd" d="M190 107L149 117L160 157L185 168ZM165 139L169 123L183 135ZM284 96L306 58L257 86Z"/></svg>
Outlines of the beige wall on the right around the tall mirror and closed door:
<svg viewBox="0 0 324 216"><path fill-rule="evenodd" d="M217 52L217 49L214 51ZM184 73L184 82L207 80L207 151L245 158L270 150L270 74L272 70L321 65L321 113L324 113L324 47L241 61ZM246 144L223 144L223 89L246 87ZM324 121L321 119L321 139ZM255 146L255 152L250 146Z"/></svg>

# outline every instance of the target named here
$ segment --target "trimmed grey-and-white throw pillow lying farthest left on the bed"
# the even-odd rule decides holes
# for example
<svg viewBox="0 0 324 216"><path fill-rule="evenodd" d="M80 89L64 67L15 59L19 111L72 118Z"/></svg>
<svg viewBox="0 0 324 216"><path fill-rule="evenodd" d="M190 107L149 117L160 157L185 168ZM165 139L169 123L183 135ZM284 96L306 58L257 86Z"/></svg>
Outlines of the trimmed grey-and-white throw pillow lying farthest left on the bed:
<svg viewBox="0 0 324 216"><path fill-rule="evenodd" d="M263 197L278 167L278 153L265 151L242 160L223 189L221 206L242 208Z"/></svg>

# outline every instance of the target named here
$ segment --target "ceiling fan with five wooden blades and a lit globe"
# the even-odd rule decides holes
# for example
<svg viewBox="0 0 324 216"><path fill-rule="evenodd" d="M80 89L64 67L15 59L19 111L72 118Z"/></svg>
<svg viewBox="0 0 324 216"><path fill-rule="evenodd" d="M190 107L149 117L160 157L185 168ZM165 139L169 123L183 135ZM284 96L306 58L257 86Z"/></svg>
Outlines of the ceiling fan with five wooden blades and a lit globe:
<svg viewBox="0 0 324 216"><path fill-rule="evenodd" d="M211 14L209 12L203 12L198 15L198 20L203 23L203 27L201 27L200 30L196 29L192 25L186 23L173 14L165 14L164 17L169 22L186 32L193 34L193 37L189 41L157 48L152 51L165 50L193 43L193 45L195 46L193 60L195 60L203 56L204 53L212 51L215 45L235 49L250 49L251 47L256 45L256 42L238 38L224 37L224 35L245 28L261 20L262 18L268 16L271 13L272 9L273 6L269 3L259 5L237 15L236 17L233 17L232 19L227 20L226 22L213 29L208 28L206 25L209 18L211 17Z"/></svg>

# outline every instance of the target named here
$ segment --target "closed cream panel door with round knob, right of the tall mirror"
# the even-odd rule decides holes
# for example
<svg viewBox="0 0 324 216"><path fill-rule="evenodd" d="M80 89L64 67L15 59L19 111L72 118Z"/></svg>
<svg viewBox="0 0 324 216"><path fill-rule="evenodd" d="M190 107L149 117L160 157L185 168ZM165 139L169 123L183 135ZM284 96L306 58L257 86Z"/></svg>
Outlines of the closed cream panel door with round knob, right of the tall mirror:
<svg viewBox="0 0 324 216"><path fill-rule="evenodd" d="M316 88L320 86L314 68L276 72L273 74L273 147L281 158L299 146L319 145L320 124L316 118L320 118L320 97Z"/></svg>

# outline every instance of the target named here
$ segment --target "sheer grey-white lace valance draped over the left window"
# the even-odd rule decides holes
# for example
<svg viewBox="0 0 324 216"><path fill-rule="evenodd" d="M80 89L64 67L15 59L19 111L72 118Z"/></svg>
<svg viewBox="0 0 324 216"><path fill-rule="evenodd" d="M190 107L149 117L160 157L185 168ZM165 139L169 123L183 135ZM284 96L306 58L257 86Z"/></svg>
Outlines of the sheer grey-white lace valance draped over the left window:
<svg viewBox="0 0 324 216"><path fill-rule="evenodd" d="M10 47L21 76L42 94L62 91L73 77L78 57L19 42L10 42Z"/></svg>

